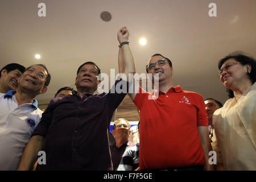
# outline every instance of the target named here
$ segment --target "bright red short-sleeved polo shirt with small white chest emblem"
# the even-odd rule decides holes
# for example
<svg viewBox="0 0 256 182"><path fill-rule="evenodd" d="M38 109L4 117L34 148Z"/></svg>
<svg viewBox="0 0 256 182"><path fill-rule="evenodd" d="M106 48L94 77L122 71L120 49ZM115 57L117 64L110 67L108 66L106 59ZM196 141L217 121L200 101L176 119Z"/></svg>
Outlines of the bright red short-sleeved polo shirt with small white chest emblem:
<svg viewBox="0 0 256 182"><path fill-rule="evenodd" d="M141 169L204 166L197 126L208 126L208 120L200 94L180 86L153 94L139 88L133 102L141 111Z"/></svg>

